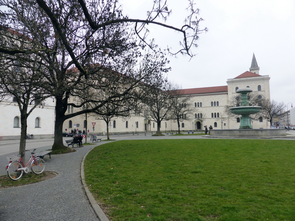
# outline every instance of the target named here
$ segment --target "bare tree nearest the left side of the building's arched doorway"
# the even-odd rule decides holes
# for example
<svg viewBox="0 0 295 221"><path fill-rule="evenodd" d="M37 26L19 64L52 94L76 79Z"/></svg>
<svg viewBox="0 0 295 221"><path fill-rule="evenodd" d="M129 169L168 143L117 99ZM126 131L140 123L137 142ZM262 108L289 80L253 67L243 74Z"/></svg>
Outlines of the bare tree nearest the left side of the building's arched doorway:
<svg viewBox="0 0 295 221"><path fill-rule="evenodd" d="M191 98L184 95L183 90L177 84L172 84L174 88L171 92L171 108L170 108L170 119L177 122L178 133L180 133L180 122L185 120L191 120L193 114L193 108Z"/></svg>

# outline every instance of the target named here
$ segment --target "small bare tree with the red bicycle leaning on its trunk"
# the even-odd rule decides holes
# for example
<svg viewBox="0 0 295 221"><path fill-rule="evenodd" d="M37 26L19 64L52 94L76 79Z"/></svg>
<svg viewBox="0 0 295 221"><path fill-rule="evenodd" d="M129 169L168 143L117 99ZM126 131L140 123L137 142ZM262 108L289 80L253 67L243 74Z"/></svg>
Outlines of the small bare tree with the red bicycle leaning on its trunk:
<svg viewBox="0 0 295 221"><path fill-rule="evenodd" d="M1 36L6 45L27 47L31 44L31 39L16 35L11 29L2 27L1 32L6 35L6 37ZM43 91L43 87L47 85L44 76L48 75L48 72L40 63L42 59L33 54L0 56L0 101L6 101L7 105L17 104L19 108L21 123L19 154L22 155L24 162L27 118L35 108L43 108L45 100L50 97L50 94Z"/></svg>

